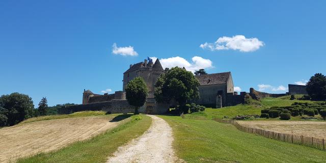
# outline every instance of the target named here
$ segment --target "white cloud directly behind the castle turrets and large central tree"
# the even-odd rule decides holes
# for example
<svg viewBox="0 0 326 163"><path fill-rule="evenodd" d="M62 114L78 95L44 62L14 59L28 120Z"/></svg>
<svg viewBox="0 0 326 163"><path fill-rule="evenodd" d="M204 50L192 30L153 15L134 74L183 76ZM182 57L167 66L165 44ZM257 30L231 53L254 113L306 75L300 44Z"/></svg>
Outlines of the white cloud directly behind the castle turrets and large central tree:
<svg viewBox="0 0 326 163"><path fill-rule="evenodd" d="M156 57L151 57L153 62L155 63ZM159 59L163 68L172 68L172 67L184 67L188 71L195 72L195 70L199 69L209 69L212 68L212 61L209 59L204 59L198 56L192 58L193 62L188 62L186 59L181 57L171 57L166 59Z"/></svg>

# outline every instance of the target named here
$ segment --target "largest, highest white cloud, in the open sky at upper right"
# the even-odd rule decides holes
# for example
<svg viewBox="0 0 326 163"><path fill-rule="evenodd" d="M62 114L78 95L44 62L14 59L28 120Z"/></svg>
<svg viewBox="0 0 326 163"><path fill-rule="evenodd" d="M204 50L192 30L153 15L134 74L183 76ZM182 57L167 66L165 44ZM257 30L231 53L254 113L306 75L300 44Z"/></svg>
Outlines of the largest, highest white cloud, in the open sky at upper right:
<svg viewBox="0 0 326 163"><path fill-rule="evenodd" d="M214 50L239 50L241 52L256 51L261 46L264 46L264 42L258 40L258 38L246 38L243 35L236 35L233 37L220 37L214 43L201 44L203 49Z"/></svg>

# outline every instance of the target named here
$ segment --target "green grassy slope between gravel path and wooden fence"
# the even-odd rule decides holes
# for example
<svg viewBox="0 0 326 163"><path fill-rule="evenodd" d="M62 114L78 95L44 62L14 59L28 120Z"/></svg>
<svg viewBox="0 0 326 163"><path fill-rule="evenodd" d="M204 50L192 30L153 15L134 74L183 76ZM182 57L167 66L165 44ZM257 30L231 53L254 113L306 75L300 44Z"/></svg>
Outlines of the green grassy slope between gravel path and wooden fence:
<svg viewBox="0 0 326 163"><path fill-rule="evenodd" d="M187 162L325 162L326 153L275 141L212 120L160 116L173 128L174 148Z"/></svg>

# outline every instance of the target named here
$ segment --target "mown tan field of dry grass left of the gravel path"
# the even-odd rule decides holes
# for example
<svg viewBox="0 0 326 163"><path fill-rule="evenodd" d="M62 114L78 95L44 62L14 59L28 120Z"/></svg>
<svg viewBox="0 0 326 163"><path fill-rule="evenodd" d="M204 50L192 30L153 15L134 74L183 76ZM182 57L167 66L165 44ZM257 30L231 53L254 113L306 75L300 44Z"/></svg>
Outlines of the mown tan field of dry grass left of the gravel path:
<svg viewBox="0 0 326 163"><path fill-rule="evenodd" d="M93 137L123 121L93 116L30 122L0 129L0 162L60 149Z"/></svg>

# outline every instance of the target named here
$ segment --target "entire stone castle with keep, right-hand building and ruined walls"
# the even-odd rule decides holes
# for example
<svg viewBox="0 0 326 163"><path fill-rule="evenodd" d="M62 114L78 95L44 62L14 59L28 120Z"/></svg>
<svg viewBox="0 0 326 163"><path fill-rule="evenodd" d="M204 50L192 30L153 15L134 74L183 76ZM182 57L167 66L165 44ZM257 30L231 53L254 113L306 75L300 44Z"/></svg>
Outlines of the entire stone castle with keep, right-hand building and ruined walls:
<svg viewBox="0 0 326 163"><path fill-rule="evenodd" d="M122 91L116 91L114 94L105 93L104 95L94 94L90 90L84 90L83 104L69 106L66 113L78 112L83 110L104 110L111 113L133 113L134 107L129 105L124 92L127 84L135 77L142 77L145 80L147 89L149 90L147 100L139 109L140 113L161 114L166 113L170 104L158 103L154 98L154 86L158 76L165 73L159 60L155 63L151 60L140 62L130 67L123 73ZM243 103L244 95L256 95L259 97L279 97L286 94L269 94L258 92L253 88L250 93L234 92L234 85L231 72L204 74L196 76L198 79L200 99L194 100L196 104L207 107L220 108L223 106L232 106ZM304 92L304 86L289 85L287 94L298 94Z"/></svg>

